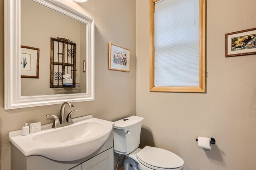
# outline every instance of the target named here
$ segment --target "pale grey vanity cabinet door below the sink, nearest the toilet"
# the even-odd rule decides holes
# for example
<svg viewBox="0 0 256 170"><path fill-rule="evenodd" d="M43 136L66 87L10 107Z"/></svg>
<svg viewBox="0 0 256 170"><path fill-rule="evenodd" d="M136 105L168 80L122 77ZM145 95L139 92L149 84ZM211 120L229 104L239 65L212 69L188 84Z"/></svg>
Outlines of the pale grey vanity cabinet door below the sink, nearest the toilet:
<svg viewBox="0 0 256 170"><path fill-rule="evenodd" d="M82 163L82 170L113 170L113 147Z"/></svg>

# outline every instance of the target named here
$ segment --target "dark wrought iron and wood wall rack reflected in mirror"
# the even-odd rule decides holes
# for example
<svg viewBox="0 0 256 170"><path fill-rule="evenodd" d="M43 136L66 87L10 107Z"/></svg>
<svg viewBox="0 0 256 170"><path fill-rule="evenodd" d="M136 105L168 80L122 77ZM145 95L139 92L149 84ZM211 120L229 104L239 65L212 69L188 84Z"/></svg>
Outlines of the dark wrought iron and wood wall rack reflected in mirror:
<svg viewBox="0 0 256 170"><path fill-rule="evenodd" d="M79 87L76 83L76 43L51 37L50 88Z"/></svg>

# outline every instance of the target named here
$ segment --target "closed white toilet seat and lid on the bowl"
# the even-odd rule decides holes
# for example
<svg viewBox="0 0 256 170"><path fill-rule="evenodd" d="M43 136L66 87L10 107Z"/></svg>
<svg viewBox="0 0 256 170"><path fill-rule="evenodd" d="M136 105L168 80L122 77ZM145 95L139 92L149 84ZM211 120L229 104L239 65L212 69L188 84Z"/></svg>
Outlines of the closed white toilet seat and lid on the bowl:
<svg viewBox="0 0 256 170"><path fill-rule="evenodd" d="M154 170L181 170L184 161L178 155L164 149L148 147L136 154L138 162Z"/></svg>

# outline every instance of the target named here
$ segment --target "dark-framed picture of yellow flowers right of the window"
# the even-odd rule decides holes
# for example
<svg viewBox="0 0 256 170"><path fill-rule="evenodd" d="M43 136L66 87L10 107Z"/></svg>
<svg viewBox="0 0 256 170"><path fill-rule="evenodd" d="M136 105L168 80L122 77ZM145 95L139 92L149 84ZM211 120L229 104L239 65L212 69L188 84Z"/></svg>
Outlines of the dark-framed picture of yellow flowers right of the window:
<svg viewBox="0 0 256 170"><path fill-rule="evenodd" d="M225 34L225 57L256 54L256 28Z"/></svg>

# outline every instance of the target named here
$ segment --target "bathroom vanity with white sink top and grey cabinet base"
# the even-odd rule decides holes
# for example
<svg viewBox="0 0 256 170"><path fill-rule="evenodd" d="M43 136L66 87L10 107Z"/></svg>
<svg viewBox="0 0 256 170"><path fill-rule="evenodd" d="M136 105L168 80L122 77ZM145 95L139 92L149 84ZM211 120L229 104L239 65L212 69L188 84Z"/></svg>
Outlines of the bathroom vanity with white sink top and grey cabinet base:
<svg viewBox="0 0 256 170"><path fill-rule="evenodd" d="M42 131L27 136L10 132L11 169L113 170L114 123L92 115L73 120L57 129L42 125Z"/></svg>

